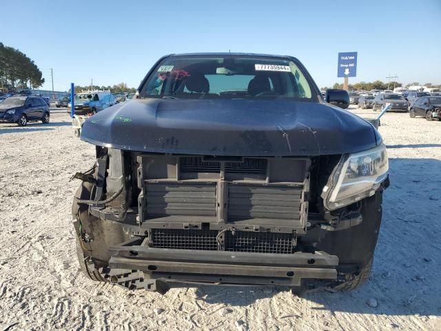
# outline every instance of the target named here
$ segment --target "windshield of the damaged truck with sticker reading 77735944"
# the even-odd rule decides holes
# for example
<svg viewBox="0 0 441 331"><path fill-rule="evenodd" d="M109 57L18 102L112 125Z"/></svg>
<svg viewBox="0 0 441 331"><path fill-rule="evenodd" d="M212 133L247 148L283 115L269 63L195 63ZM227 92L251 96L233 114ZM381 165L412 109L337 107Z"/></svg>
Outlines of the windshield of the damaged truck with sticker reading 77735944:
<svg viewBox="0 0 441 331"><path fill-rule="evenodd" d="M289 59L178 56L159 63L141 98L312 100L305 74Z"/></svg>

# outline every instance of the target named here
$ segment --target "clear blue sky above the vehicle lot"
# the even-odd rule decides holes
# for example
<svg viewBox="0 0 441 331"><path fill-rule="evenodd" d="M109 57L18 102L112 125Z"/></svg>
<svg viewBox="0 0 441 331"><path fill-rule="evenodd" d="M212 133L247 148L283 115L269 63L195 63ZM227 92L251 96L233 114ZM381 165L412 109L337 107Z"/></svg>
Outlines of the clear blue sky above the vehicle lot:
<svg viewBox="0 0 441 331"><path fill-rule="evenodd" d="M342 82L338 52L351 51L349 83L441 83L441 0L4 1L0 41L34 60L43 88L53 68L56 90L137 87L164 54L228 50L293 55L320 87Z"/></svg>

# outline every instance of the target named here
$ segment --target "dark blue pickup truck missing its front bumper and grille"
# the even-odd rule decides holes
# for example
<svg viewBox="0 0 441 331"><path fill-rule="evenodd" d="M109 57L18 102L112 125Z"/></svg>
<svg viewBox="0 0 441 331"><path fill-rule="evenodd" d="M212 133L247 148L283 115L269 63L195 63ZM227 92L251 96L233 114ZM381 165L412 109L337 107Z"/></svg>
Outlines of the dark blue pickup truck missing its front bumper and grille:
<svg viewBox="0 0 441 331"><path fill-rule="evenodd" d="M382 137L323 101L294 57L161 58L136 99L85 121L96 163L72 208L95 281L351 289L371 270L389 164Z"/></svg>

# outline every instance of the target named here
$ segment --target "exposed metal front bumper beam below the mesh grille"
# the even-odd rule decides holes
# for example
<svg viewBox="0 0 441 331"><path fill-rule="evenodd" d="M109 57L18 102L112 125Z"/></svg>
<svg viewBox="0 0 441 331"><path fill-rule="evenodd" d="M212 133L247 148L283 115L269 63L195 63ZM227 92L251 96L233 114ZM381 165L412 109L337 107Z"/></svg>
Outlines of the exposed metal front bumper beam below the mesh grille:
<svg viewBox="0 0 441 331"><path fill-rule="evenodd" d="M336 280L338 274L338 257L325 252L267 254L121 245L110 248L110 254L105 278L125 288L147 290L145 284L154 280L300 286L302 279Z"/></svg>

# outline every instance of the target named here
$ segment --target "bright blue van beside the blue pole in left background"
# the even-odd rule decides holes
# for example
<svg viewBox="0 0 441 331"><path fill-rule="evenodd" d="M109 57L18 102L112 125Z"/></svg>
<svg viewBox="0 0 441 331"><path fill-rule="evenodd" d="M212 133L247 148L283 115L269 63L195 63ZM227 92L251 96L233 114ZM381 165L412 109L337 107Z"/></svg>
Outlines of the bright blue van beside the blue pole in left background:
<svg viewBox="0 0 441 331"><path fill-rule="evenodd" d="M74 113L76 115L95 114L107 107L114 106L116 99L110 91L87 91L75 94ZM71 108L68 103L68 108Z"/></svg>

